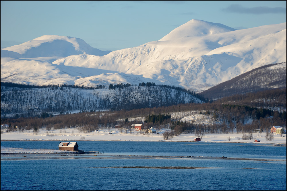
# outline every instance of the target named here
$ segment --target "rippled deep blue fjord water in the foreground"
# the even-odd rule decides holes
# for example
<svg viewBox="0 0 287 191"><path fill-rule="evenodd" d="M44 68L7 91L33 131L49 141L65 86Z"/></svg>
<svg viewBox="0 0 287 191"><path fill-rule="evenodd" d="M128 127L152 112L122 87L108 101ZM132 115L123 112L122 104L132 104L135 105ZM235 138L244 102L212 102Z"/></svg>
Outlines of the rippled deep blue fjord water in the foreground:
<svg viewBox="0 0 287 191"><path fill-rule="evenodd" d="M286 146L77 143L79 149L101 154L1 154L1 190L286 190ZM1 146L29 149L58 145L59 141L1 141Z"/></svg>

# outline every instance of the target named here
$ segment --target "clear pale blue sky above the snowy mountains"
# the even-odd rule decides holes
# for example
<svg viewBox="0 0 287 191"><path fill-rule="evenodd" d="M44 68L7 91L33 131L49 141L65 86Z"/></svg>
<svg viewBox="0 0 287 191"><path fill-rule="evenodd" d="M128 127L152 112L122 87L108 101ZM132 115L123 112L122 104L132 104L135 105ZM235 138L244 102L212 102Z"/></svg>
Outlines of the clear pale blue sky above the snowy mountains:
<svg viewBox="0 0 287 191"><path fill-rule="evenodd" d="M43 35L100 50L160 40L191 19L235 29L286 22L286 1L1 1L1 48Z"/></svg>

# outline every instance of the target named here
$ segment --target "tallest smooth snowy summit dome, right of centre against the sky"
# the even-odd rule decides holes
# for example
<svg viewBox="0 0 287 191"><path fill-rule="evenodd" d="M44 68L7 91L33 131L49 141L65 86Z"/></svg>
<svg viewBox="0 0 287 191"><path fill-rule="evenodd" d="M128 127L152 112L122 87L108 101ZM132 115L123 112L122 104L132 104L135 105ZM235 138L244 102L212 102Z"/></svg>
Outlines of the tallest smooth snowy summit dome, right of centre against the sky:
<svg viewBox="0 0 287 191"><path fill-rule="evenodd" d="M220 23L212 23L208 21L192 19L187 23L172 30L169 34L160 39L160 41L174 40L191 36L209 36L234 30L236 29Z"/></svg>

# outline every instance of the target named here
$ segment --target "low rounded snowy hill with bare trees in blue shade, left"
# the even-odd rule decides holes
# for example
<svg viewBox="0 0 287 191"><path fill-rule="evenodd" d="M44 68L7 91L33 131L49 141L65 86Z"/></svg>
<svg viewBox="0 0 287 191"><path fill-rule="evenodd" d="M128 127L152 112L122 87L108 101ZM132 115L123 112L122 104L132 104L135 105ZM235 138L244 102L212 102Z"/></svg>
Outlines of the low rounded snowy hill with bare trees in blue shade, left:
<svg viewBox="0 0 287 191"><path fill-rule="evenodd" d="M4 83L3 83L4 84ZM15 87L1 84L1 118L34 117L43 112L74 113L79 111L137 109L202 103L195 92L171 86L131 86L115 84L103 88L52 86ZM13 86L13 87L11 87Z"/></svg>

